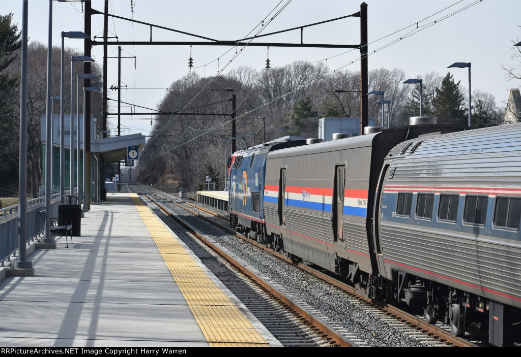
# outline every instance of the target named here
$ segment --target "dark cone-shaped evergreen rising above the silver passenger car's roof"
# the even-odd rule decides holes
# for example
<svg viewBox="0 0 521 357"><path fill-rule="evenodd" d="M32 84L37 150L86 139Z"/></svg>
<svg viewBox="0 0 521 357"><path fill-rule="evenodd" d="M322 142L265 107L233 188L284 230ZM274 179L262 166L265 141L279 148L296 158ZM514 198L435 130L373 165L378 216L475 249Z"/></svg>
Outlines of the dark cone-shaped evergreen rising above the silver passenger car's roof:
<svg viewBox="0 0 521 357"><path fill-rule="evenodd" d="M436 97L433 100L434 116L438 124L466 126L468 122L463 102L460 82L455 83L452 74L447 73L441 86L436 87Z"/></svg>

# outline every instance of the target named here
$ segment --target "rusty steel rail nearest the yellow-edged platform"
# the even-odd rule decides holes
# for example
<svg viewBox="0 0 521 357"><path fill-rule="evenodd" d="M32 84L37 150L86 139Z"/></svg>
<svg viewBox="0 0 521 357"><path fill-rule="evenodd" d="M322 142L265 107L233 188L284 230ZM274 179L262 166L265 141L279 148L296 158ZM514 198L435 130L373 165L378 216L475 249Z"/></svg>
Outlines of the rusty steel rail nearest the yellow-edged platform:
<svg viewBox="0 0 521 357"><path fill-rule="evenodd" d="M135 186L134 186L135 188ZM137 188L136 188L137 189ZM139 190L139 189L138 189ZM190 233L197 236L202 242L204 242L206 245L208 245L210 248L212 248L217 254L222 256L224 259L228 260L233 266L235 266L237 269L242 271L249 279L253 280L255 284L258 286L261 286L265 292L277 300L281 305L288 309L293 315L295 315L296 318L300 319L303 323L310 326L317 334L320 335L320 337L329 340L329 343L334 344L335 346L340 347L356 347L356 344L349 339L346 339L344 336L336 332L332 327L330 327L325 322L318 319L313 314L306 311L304 308L302 308L297 302L293 301L292 299L288 298L279 290L273 286L271 286L269 283L265 282L263 279L258 277L255 273L244 267L240 262L235 260L230 255L223 252L219 246L215 245L214 243L210 242L209 240L204 237L202 233L197 231L197 229L190 226L190 224L184 222L179 217L173 215L166 207L164 207L162 204L158 203L152 197L149 197L146 195L143 191L140 190L140 192L147 197L148 200L153 202L155 205L157 205L160 209L164 211L165 214L167 214L172 219L176 220L181 226L183 226L185 229L187 229ZM174 203L178 205L177 203ZM180 205L178 205L180 206ZM184 208L181 206L181 208ZM186 209L186 208L184 208ZM188 210L188 209L187 209ZM188 210L190 211L190 210ZM191 211L190 211L191 212ZM199 217L203 217L200 215L197 215ZM205 217L206 218L206 217Z"/></svg>

